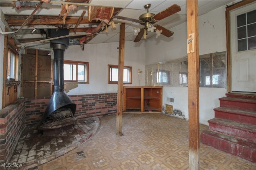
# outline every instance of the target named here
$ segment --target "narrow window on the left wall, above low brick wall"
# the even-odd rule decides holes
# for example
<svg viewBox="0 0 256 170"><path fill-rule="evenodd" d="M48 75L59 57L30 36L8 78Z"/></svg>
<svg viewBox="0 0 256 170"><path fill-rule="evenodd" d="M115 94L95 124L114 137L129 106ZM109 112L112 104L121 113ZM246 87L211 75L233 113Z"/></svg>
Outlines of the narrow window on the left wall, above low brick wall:
<svg viewBox="0 0 256 170"><path fill-rule="evenodd" d="M7 80L18 81L18 55L8 51Z"/></svg>

